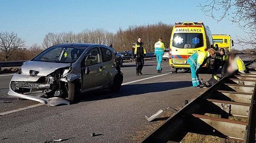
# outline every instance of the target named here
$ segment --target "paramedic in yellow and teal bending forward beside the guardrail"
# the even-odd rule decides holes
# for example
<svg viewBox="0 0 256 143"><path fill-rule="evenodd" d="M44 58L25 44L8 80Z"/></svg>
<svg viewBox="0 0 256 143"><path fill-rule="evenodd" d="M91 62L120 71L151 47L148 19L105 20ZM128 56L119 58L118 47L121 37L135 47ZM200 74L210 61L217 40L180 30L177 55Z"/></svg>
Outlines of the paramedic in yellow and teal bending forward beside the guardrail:
<svg viewBox="0 0 256 143"><path fill-rule="evenodd" d="M210 48L207 51L198 51L196 53L193 53L187 60L190 65L193 87L201 88L198 78L199 69L201 65L203 65L203 63L207 61L208 57L213 56L214 54L215 50L213 48Z"/></svg>

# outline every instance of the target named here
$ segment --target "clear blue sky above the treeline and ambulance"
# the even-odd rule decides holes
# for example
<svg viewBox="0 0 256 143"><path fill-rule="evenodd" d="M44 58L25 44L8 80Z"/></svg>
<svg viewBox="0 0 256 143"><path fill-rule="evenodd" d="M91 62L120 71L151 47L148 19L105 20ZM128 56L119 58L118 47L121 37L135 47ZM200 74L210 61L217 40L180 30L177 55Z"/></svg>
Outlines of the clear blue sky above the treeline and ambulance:
<svg viewBox="0 0 256 143"><path fill-rule="evenodd" d="M204 3L206 0L200 0ZM162 21L203 21L212 34L245 36L227 19L217 23L198 7L199 0L0 0L0 31L14 31L27 45L42 44L48 32L104 28ZM240 49L238 45L234 48Z"/></svg>

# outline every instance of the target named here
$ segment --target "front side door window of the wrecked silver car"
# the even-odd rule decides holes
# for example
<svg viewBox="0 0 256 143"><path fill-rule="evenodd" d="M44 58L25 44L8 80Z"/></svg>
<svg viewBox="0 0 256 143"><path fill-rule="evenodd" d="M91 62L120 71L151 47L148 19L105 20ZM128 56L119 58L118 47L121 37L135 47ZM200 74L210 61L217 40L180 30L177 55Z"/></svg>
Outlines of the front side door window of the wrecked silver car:
<svg viewBox="0 0 256 143"><path fill-rule="evenodd" d="M97 64L100 62L100 56L99 56L99 48L92 48L88 52L86 52L84 56L84 65L88 66L91 64Z"/></svg>

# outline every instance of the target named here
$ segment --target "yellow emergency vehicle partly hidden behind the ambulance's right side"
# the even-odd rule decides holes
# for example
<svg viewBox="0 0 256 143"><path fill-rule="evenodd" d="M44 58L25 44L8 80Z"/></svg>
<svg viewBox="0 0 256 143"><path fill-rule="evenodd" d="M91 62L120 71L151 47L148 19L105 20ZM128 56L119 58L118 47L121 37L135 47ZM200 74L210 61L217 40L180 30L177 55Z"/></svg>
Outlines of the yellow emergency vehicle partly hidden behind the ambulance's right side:
<svg viewBox="0 0 256 143"><path fill-rule="evenodd" d="M218 48L224 48L227 53L231 51L231 44L234 46L231 36L227 34L212 34L214 46L218 44Z"/></svg>

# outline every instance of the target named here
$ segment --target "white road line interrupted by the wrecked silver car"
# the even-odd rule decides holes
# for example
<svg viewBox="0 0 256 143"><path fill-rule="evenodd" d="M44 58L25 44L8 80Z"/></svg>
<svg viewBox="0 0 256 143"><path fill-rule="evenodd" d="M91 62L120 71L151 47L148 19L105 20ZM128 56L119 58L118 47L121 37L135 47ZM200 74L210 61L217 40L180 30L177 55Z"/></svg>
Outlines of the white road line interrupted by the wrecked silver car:
<svg viewBox="0 0 256 143"><path fill-rule="evenodd" d="M144 81L144 80L147 80L147 79L153 79L153 78L156 78L156 77L159 77L159 76L166 76L168 74L170 74L170 73L165 73L165 74L161 74L161 75L157 75L157 76L151 76L151 77L148 77L148 78L145 78L145 79L139 79L139 80L136 80L136 81L130 81L130 82L123 83L122 85L131 84L131 83L138 82L138 81ZM31 105L31 106L27 106L27 107L23 107L23 108L19 108L19 109L14 109L14 110L7 111L7 112L2 112L2 113L0 113L0 115L6 115L6 114L13 113L13 112L18 112L18 111L22 111L22 110L25 110L25 109L34 108L34 107L38 107L38 106L42 106L42 105L44 105L44 104L39 103L39 104L35 104L35 105Z"/></svg>

